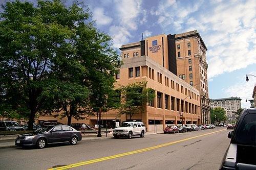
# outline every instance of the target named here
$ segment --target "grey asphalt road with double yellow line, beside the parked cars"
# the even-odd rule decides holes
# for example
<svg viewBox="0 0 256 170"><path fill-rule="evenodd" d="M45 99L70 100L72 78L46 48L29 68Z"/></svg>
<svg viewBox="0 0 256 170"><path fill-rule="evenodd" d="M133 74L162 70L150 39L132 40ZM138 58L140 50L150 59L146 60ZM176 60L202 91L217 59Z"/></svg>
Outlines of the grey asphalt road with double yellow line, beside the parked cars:
<svg viewBox="0 0 256 170"><path fill-rule="evenodd" d="M215 128L133 139L82 140L75 146L55 144L42 150L1 149L0 169L48 169L70 164L77 166L71 169L218 169L230 142L229 131Z"/></svg>

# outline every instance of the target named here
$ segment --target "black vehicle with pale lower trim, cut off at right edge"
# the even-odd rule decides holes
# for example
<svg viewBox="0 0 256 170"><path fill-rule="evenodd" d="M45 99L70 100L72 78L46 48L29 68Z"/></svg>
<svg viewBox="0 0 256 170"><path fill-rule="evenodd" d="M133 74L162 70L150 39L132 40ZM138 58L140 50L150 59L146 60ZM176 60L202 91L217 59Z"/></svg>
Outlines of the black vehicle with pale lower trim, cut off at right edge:
<svg viewBox="0 0 256 170"><path fill-rule="evenodd" d="M256 169L256 108L244 109L231 138L220 169Z"/></svg>

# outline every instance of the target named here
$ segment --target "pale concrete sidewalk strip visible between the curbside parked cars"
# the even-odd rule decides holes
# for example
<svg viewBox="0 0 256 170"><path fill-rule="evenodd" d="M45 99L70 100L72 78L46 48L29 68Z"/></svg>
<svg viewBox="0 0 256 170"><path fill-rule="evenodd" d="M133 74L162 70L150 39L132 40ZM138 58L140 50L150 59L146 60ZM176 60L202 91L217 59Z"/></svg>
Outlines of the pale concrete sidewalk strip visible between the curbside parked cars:
<svg viewBox="0 0 256 170"><path fill-rule="evenodd" d="M162 133L162 132L159 132ZM158 133L154 132L146 132L145 135L154 135ZM102 140L102 139L109 139L113 138L112 132L106 134L104 132L101 132L102 137L97 137L97 134L82 134L82 140ZM15 138L18 135L10 135L10 136L0 136L0 149L3 148L14 148L16 147L15 145Z"/></svg>

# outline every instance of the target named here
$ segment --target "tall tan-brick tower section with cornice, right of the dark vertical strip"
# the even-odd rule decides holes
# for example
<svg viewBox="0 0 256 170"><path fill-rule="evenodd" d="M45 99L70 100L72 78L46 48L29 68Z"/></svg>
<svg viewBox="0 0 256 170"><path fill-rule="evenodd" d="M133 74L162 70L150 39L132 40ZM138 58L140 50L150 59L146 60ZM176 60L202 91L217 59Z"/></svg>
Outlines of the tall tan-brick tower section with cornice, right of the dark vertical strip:
<svg viewBox="0 0 256 170"><path fill-rule="evenodd" d="M202 124L210 124L206 51L197 31L175 35L177 75L200 92Z"/></svg>

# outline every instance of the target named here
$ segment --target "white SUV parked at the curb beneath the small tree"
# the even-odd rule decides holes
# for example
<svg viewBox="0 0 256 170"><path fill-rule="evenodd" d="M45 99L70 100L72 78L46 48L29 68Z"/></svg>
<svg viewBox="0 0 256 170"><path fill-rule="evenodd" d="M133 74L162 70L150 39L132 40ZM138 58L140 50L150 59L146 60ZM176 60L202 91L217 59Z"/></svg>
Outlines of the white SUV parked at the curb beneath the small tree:
<svg viewBox="0 0 256 170"><path fill-rule="evenodd" d="M115 138L125 136L131 139L135 135L144 137L145 133L146 127L142 122L124 122L121 127L113 129L113 136Z"/></svg>

